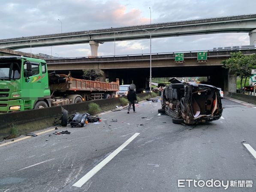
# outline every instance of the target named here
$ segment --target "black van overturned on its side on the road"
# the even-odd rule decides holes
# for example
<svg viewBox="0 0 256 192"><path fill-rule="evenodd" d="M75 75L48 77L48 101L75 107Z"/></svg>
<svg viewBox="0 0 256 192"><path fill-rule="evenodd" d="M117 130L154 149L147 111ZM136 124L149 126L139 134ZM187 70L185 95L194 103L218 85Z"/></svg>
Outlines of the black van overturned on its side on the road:
<svg viewBox="0 0 256 192"><path fill-rule="evenodd" d="M172 117L172 122L196 124L220 119L222 104L220 91L211 85L182 83L173 78L169 80L162 93L162 109Z"/></svg>

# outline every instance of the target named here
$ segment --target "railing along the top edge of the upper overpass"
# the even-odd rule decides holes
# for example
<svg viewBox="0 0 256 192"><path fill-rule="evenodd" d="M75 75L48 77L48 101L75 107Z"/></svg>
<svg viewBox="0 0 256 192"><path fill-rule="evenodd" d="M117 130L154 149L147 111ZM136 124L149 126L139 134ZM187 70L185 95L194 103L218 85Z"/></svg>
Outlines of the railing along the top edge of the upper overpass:
<svg viewBox="0 0 256 192"><path fill-rule="evenodd" d="M124 27L114 27L114 28L105 28L105 29L92 29L76 32L66 32L66 33L54 33L48 35L36 35L36 36L27 36L22 38L9 38L9 39L0 39L0 42L9 42L9 41L26 41L32 39L41 39L41 38L53 38L53 37L62 37L62 36L72 36L72 35L89 35L93 33L102 33L102 32L121 32L126 30L137 30L145 28L157 28L160 26L175 26L175 25L186 25L186 24L196 24L196 23L208 23L208 22L218 22L218 21L232 21L232 20L241 20L241 19L250 19L256 18L256 14L247 14L247 15L233 15L233 16L224 16L224 17L211 17L203 19L193 19L193 20L180 20L164 23L152 23L145 25L134 25L134 26L124 26Z"/></svg>

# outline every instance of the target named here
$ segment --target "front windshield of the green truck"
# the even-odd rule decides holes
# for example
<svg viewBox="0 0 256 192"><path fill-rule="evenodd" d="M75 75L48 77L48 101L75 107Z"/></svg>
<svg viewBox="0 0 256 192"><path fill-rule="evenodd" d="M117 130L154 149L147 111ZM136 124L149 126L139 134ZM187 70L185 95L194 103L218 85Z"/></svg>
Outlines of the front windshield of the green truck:
<svg viewBox="0 0 256 192"><path fill-rule="evenodd" d="M0 79L20 79L21 63L17 61L0 61Z"/></svg>

